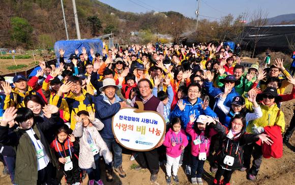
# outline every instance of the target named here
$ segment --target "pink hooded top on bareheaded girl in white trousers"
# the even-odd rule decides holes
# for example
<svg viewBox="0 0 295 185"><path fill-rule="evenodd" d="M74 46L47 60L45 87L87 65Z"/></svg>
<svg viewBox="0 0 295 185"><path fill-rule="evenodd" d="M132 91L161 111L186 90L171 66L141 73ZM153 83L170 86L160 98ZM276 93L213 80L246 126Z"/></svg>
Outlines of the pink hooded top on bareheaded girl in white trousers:
<svg viewBox="0 0 295 185"><path fill-rule="evenodd" d="M176 142L176 145L172 146L172 142ZM180 147L182 145L186 147L188 143L187 135L183 129L176 135L175 132L170 128L165 135L163 145L167 147L166 154L168 156L177 158L182 153L182 149Z"/></svg>

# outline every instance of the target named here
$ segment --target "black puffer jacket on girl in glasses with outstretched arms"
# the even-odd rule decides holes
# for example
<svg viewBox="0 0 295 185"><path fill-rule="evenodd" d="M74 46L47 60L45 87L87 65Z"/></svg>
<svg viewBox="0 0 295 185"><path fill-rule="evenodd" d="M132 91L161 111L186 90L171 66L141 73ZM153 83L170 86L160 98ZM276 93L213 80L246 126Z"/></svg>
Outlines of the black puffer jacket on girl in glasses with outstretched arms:
<svg viewBox="0 0 295 185"><path fill-rule="evenodd" d="M214 129L220 135L220 148L215 154L215 159L218 164L223 168L230 170L237 170L243 166L243 146L248 143L258 141L258 135L256 134L241 134L238 137L229 139L226 137L228 130L217 122L214 126ZM234 158L233 165L229 166L223 163L223 160L226 156L231 156Z"/></svg>

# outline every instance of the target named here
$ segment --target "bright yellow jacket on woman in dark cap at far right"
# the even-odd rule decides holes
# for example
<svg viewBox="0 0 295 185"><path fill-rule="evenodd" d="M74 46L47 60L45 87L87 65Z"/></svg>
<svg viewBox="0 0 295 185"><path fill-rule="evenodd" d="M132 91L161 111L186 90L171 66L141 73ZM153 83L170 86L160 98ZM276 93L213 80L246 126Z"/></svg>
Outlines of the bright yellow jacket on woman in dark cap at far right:
<svg viewBox="0 0 295 185"><path fill-rule="evenodd" d="M253 111L252 103L249 102L248 99L245 99L245 101L247 109ZM277 125L281 127L281 132L283 133L285 130L284 113L278 108L277 104L275 103L271 107L261 104L260 108L262 110L262 117L250 121L246 128L246 131L252 133L252 127L254 127L254 125L256 127Z"/></svg>

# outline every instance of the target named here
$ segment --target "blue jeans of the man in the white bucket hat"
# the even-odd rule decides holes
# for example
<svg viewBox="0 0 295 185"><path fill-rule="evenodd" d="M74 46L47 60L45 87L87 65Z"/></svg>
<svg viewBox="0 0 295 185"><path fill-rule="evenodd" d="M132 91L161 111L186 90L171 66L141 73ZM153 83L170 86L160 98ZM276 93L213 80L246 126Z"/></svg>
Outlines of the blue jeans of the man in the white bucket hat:
<svg viewBox="0 0 295 185"><path fill-rule="evenodd" d="M115 141L115 138L102 138L106 143L108 149L111 151L113 149L113 157L114 157L114 167L122 166L122 148L121 146Z"/></svg>

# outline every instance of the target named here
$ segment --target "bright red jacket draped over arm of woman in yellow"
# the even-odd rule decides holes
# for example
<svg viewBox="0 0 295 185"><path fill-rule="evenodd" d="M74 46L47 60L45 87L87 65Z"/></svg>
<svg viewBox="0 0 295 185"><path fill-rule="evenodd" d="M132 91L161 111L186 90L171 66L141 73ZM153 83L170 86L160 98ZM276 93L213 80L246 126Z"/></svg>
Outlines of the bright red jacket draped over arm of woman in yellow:
<svg viewBox="0 0 295 185"><path fill-rule="evenodd" d="M270 136L270 139L274 142L272 145L261 143L261 140L257 141L258 145L261 145L263 158L281 158L283 156L283 137L281 134L281 127L264 127L264 134Z"/></svg>

